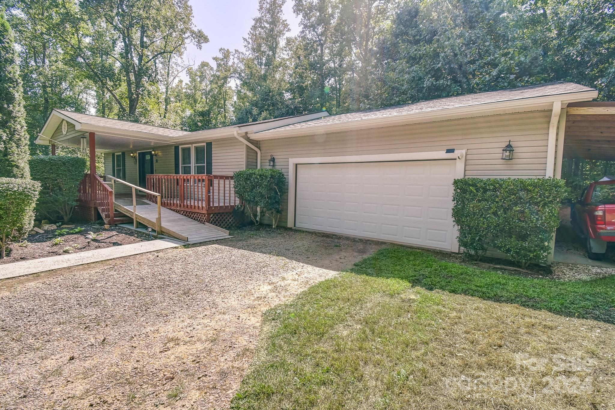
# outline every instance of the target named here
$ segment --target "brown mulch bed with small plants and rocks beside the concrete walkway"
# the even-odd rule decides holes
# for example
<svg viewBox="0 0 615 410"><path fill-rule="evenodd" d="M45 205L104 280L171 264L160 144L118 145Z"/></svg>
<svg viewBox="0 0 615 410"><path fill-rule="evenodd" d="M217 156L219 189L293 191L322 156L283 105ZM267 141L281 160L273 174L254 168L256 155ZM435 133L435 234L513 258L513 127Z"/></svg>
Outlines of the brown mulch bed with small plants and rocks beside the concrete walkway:
<svg viewBox="0 0 615 410"><path fill-rule="evenodd" d="M56 231L67 229L71 231L78 227L82 227L83 231L75 234L57 235ZM103 224L99 223L82 223L60 226L58 229L46 231L43 234L31 234L26 237L25 241L20 244L14 243L7 251L4 259L0 259L0 264L11 262L29 261L31 259L47 258L48 256L56 256L67 253L77 253L83 251L91 251L101 248L109 248L111 246L128 245L129 243L142 242L149 240L149 235L137 231L132 231L121 226L109 226L105 229ZM90 239L89 232L95 234L101 233L97 239ZM54 240L61 238L60 242L54 244Z"/></svg>

